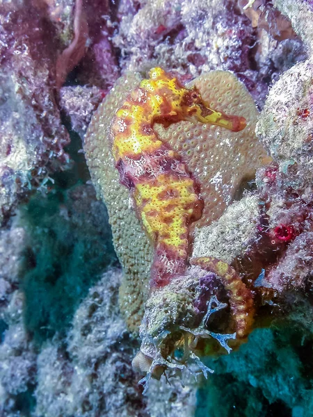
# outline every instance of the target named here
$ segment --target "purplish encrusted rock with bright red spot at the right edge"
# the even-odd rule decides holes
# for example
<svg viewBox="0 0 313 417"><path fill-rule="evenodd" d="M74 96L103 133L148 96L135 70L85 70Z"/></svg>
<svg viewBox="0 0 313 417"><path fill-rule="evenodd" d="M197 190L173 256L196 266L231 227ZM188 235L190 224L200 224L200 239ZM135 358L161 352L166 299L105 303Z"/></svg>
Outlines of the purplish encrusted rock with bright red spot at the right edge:
<svg viewBox="0 0 313 417"><path fill-rule="evenodd" d="M299 174L300 172L300 174ZM312 238L312 185L303 181L296 164L287 173L276 164L257 172L257 186L266 220L268 249L275 254L271 265L264 263L264 277L260 284L287 297L287 291L305 289L310 293L310 275L313 271Z"/></svg>

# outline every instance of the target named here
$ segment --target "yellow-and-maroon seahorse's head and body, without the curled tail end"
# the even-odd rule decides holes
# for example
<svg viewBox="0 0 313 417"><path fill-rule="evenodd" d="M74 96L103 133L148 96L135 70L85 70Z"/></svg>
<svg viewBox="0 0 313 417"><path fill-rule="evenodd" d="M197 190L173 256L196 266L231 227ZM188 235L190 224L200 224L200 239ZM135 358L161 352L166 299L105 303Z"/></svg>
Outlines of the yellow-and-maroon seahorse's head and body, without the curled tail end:
<svg viewBox="0 0 313 417"><path fill-rule="evenodd" d="M177 152L158 138L154 123L168 127L188 120L241 131L246 120L209 108L196 88L185 88L160 67L149 76L115 113L111 133L120 181L155 248L150 288L158 288L184 274L188 226L200 219L203 202L198 183Z"/></svg>

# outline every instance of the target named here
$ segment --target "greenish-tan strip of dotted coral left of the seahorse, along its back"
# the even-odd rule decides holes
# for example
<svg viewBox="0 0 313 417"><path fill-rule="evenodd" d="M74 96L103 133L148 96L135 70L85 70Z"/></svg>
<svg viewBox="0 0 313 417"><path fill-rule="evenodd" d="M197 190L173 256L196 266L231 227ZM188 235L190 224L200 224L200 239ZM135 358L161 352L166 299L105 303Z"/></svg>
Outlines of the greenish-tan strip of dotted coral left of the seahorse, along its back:
<svg viewBox="0 0 313 417"><path fill-rule="evenodd" d="M136 331L143 316L143 305L152 261L152 247L145 236L134 210L129 206L128 190L120 184L111 154L108 129L115 111L122 106L141 78L138 74L121 77L99 106L88 126L84 150L91 179L97 194L106 202L115 250L125 278L120 288L120 306L126 313L129 328Z"/></svg>

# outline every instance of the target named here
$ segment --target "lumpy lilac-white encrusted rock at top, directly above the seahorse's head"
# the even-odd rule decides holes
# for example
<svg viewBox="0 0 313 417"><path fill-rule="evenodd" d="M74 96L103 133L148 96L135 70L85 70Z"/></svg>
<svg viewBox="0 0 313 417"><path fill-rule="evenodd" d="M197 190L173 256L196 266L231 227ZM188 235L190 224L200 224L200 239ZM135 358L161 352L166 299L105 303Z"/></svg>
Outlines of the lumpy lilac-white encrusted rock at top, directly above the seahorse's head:
<svg viewBox="0 0 313 417"><path fill-rule="evenodd" d="M228 0L148 1L131 21L122 20L113 42L125 56L122 66L131 71L159 65L191 77L217 69L245 72L254 42L246 22Z"/></svg>

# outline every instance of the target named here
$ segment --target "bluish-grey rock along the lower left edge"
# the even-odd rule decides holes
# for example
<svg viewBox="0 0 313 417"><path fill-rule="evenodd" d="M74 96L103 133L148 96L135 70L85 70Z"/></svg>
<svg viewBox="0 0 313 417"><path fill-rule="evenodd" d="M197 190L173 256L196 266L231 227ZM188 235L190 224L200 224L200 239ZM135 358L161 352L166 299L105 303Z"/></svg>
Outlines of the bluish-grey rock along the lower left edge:
<svg viewBox="0 0 313 417"><path fill-rule="evenodd" d="M37 352L23 322L19 289L26 233L13 222L0 231L0 414L13 416L17 398L35 384ZM10 414L12 413L12 414Z"/></svg>

